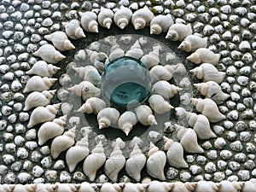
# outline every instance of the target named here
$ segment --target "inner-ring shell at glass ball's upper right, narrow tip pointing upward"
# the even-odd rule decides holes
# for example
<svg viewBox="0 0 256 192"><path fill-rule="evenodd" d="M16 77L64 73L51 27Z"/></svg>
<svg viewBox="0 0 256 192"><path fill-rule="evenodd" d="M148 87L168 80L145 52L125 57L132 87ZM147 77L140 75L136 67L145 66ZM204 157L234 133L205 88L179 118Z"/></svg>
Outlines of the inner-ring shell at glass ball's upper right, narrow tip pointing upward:
<svg viewBox="0 0 256 192"><path fill-rule="evenodd" d="M150 51L148 55L143 55L143 57L141 58L144 66L148 69L159 64L159 49L159 46L154 46L153 50Z"/></svg>

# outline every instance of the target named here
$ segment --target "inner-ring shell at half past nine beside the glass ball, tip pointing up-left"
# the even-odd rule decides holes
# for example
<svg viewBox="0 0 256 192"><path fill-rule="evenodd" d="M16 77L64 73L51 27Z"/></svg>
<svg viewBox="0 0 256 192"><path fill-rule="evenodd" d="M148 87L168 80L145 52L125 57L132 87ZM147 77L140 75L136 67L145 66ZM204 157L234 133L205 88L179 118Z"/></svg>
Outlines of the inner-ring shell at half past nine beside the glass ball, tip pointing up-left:
<svg viewBox="0 0 256 192"><path fill-rule="evenodd" d="M102 76L93 66L85 66L85 67L73 67L73 70L76 73L79 73L80 78L84 79L84 81L89 81L92 84L98 85L101 83Z"/></svg>

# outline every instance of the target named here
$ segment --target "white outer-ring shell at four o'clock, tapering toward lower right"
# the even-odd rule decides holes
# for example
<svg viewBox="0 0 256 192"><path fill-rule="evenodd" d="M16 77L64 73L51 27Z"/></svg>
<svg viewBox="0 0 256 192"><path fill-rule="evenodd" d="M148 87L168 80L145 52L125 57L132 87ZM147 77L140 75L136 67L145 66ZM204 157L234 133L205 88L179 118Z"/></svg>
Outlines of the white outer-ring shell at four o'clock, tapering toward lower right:
<svg viewBox="0 0 256 192"><path fill-rule="evenodd" d="M194 130L191 128L184 128L179 126L177 128L177 137L180 139L180 142L183 146L183 149L192 154L201 154L204 153L204 149L202 149L197 143L197 136Z"/></svg>

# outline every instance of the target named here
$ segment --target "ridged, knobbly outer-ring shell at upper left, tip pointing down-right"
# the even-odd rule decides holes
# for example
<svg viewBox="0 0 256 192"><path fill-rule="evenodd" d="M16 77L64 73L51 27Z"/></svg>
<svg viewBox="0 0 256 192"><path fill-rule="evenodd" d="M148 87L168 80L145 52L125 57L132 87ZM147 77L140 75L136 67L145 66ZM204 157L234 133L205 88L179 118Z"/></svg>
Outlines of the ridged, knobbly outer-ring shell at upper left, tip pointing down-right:
<svg viewBox="0 0 256 192"><path fill-rule="evenodd" d="M67 22L62 22L62 25L65 27L65 32L68 38L77 40L79 38L85 38L83 29L80 26L79 20L69 20Z"/></svg>

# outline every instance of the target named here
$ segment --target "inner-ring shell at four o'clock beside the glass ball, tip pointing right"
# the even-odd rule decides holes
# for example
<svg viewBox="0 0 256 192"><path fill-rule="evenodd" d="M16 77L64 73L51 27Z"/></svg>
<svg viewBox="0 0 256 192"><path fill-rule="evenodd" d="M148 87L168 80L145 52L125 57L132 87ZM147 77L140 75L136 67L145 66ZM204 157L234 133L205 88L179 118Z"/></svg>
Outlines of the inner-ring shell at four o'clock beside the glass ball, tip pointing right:
<svg viewBox="0 0 256 192"><path fill-rule="evenodd" d="M173 108L169 102L166 102L163 96L152 95L148 98L150 107L154 110L154 113L167 113Z"/></svg>

